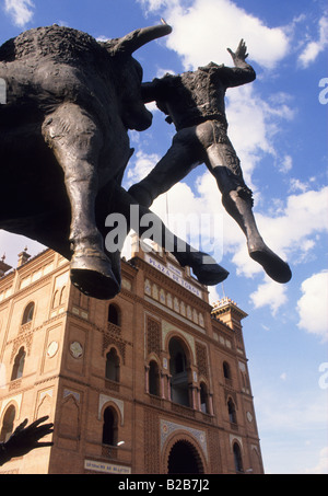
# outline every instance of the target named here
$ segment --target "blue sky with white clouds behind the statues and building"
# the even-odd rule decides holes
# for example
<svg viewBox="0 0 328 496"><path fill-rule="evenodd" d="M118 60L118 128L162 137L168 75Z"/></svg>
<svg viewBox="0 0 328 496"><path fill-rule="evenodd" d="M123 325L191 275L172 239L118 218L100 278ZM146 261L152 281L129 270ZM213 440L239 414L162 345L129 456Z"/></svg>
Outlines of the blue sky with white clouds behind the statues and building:
<svg viewBox="0 0 328 496"><path fill-rule="evenodd" d="M328 9L321 0L0 0L0 43L20 32L63 24L94 37L118 37L159 23L169 37L136 53L144 80L209 61L232 65L226 47L244 38L254 83L229 90L229 136L254 191L255 215L267 243L288 259L293 279L271 281L247 256L245 239L225 214L203 165L153 209L206 212L219 222L213 254L231 275L211 288L211 302L227 296L248 313L244 338L267 473L328 473ZM136 149L125 185L140 180L171 146L174 129L151 106L153 126L131 132ZM184 200L181 201L181 198ZM168 205L168 215L166 208ZM190 233L191 240L195 233ZM194 237L194 238L192 238ZM16 265L25 245L0 231L0 255ZM220 258L220 259L219 259Z"/></svg>

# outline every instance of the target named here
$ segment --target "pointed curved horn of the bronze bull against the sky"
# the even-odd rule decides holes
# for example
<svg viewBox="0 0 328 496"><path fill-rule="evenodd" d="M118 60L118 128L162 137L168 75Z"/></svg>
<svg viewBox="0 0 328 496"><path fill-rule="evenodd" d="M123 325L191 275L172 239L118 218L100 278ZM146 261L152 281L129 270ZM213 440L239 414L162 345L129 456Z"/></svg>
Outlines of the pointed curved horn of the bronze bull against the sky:
<svg viewBox="0 0 328 496"><path fill-rule="evenodd" d="M119 38L115 51L131 55L147 43L166 36L169 33L172 33L172 27L162 20L162 24L157 26L141 27Z"/></svg>

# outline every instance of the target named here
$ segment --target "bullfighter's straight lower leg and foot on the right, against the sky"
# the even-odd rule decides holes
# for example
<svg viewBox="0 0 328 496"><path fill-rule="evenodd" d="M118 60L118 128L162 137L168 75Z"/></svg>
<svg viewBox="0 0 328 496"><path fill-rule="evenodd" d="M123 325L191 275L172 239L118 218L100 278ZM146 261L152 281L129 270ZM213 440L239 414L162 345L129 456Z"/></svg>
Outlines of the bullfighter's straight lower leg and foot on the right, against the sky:
<svg viewBox="0 0 328 496"><path fill-rule="evenodd" d="M207 165L222 193L224 208L246 237L249 256L263 267L271 279L277 282L288 282L292 277L291 269L266 245L258 231L253 214L251 192L243 181L239 160L231 143L210 146ZM234 173L234 170L237 171L237 174Z"/></svg>

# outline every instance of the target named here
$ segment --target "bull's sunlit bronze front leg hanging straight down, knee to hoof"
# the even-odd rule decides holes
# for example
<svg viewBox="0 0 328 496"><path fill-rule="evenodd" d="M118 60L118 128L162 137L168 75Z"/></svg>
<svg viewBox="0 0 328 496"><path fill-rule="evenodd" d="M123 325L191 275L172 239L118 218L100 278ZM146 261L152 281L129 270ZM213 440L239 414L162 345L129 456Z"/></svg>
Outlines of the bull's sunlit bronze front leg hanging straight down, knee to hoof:
<svg viewBox="0 0 328 496"><path fill-rule="evenodd" d="M86 112L66 103L47 116L43 135L63 170L71 205L71 281L87 296L114 298L119 284L95 222L102 134Z"/></svg>

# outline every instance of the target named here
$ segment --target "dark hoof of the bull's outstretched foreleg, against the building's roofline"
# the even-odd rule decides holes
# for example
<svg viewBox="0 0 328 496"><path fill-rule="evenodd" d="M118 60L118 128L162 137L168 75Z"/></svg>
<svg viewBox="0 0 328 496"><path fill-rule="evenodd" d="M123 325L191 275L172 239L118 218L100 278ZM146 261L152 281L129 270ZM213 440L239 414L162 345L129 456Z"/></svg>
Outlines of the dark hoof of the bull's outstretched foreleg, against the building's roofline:
<svg viewBox="0 0 328 496"><path fill-rule="evenodd" d="M191 252L187 255L187 259L184 261L184 263L181 263L183 261L179 259L179 256L175 256L180 265L188 265L192 268L198 281L202 285L215 286L229 276L229 272L221 267L221 265L216 264L214 258L207 253Z"/></svg>

